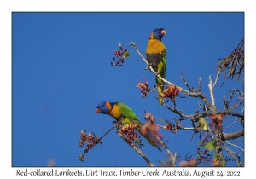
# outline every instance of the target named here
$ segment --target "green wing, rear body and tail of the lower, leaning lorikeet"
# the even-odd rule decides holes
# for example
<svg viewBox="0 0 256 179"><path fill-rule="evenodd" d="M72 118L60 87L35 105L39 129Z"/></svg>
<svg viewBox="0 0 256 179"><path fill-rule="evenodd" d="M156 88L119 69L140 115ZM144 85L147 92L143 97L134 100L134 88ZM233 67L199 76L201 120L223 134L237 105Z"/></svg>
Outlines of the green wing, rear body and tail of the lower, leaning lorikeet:
<svg viewBox="0 0 256 179"><path fill-rule="evenodd" d="M119 107L120 112L122 113L123 116L125 116L125 119L122 121L122 124L132 124L132 123L136 123L137 128L136 130L143 136L142 134L142 125L139 121L139 119L137 118L136 114L131 110L130 107L127 107L124 103L122 102L118 102L117 106ZM151 138L147 135L144 136L145 139L154 147L157 147L160 151L162 151L160 149L160 147L158 147L154 141L151 140Z"/></svg>

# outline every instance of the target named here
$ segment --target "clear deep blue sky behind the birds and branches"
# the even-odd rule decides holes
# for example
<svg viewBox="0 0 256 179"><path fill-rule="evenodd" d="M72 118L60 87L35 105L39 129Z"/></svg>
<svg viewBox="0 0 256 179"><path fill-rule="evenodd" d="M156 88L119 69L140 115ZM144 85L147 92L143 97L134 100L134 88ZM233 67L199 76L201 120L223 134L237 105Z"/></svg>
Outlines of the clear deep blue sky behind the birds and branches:
<svg viewBox="0 0 256 179"><path fill-rule="evenodd" d="M47 166L54 159L56 166L147 166L114 130L85 155L84 162L78 159L83 153L78 141L82 129L101 136L112 126L112 118L96 113L101 101L124 102L142 122L143 110L156 118L178 118L158 105L156 93L141 97L137 83L145 75L153 87L154 75L144 70L146 64L134 49L124 66L110 66L119 43L125 47L133 41L144 55L149 34L157 27L166 29L162 39L167 49L166 79L185 88L183 72L196 88L201 76L201 91L210 99L209 75L215 79L218 59L244 38L243 13L13 13L12 165ZM242 91L230 79L218 87L222 79L223 74L214 90L218 109L224 109L225 91ZM198 101L177 98L177 108L191 114L199 109ZM226 118L224 126L235 119ZM191 122L183 126L191 127ZM241 130L241 124L224 132L236 130ZM190 130L179 130L177 135L161 132L173 153L195 156L199 134L189 143ZM230 142L244 148L243 138ZM143 143L143 153L154 165L165 161L165 151ZM240 150L230 148L244 158Z"/></svg>

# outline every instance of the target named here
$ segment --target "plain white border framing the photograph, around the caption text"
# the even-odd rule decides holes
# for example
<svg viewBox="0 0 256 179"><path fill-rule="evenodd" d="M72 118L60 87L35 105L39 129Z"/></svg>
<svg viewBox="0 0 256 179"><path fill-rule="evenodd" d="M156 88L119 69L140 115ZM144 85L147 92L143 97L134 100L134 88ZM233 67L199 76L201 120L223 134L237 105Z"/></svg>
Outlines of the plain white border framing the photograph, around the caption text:
<svg viewBox="0 0 256 179"><path fill-rule="evenodd" d="M253 121L255 118L253 115L253 110L255 110L255 101L253 93L255 80L253 80L255 72L255 4L253 1L237 1L237 0L214 0L214 1L53 1L53 0L44 0L44 1L35 1L35 0L2 0L0 1L0 67L1 67L1 107L0 107L0 115L1 115L1 124L0 124L0 141L1 141L1 170L0 176L1 178L8 178L6 176L11 176L13 178L16 174L16 170L19 168L11 168L11 13L13 11L167 11L167 12L195 12L195 11L240 11L245 12L245 50L246 50L246 88L245 88L245 96L246 96L246 167L245 168L214 168L214 170L222 170L223 172L227 170L240 170L242 176L248 175L253 176L254 169L254 148L255 148L255 140L254 134L252 134ZM236 26L230 26L230 31L232 28L236 28ZM253 63L253 64L250 64ZM252 129L249 129L252 128ZM42 170L51 170L51 168L41 168ZM67 168L58 168L58 170L66 170ZM70 170L78 170L79 168L71 168ZM96 170L96 168L90 168L91 170ZM112 168L102 168L104 170L112 170ZM114 170L119 170L124 168L115 168ZM129 168L125 168L129 169ZM143 170L143 168L136 168L137 170ZM189 168L190 172L194 170L212 170L213 168ZM20 170L26 170L26 168L20 168ZM36 168L29 168L29 170L36 170ZM79 170L85 170L84 168L80 168ZM100 168L97 168L100 170ZM154 170L149 169L147 170ZM163 168L159 168L158 170L164 170ZM175 170L168 169L168 170ZM182 170L182 168L176 168L176 170ZM246 172L245 172L246 170ZM2 177L5 176L5 177ZM18 177L18 176L16 176ZM38 177L38 176L36 176ZM42 176L40 176L42 177ZM57 177L57 176L55 176ZM63 176L61 176L63 177ZM67 176L64 176L67 177ZM90 176L87 176L90 178ZM93 177L93 176L91 176ZM131 177L131 176L124 176ZM137 176L136 176L137 177ZM139 176L141 177L141 176ZM144 177L144 176L143 176ZM145 176L147 177L147 176ZM166 176L170 177L170 176ZM183 176L184 177L184 176ZM52 177L51 177L52 178ZM251 177L253 178L253 177Z"/></svg>

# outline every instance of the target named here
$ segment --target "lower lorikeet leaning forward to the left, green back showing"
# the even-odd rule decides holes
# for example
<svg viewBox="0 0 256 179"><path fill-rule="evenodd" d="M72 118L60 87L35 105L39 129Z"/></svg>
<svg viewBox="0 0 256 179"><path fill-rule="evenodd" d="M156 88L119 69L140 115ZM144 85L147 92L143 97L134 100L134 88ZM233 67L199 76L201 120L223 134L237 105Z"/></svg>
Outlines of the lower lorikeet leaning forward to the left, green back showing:
<svg viewBox="0 0 256 179"><path fill-rule="evenodd" d="M103 113L108 114L112 118L116 119L117 121L121 120L123 125L126 124L137 124L136 130L143 136L142 134L142 126L141 122L137 118L136 114L131 110L130 107L127 107L122 102L109 102L109 101L102 101L96 107L96 113ZM144 136L145 139L154 147L157 147L160 151L160 147L158 147L154 141L147 135Z"/></svg>

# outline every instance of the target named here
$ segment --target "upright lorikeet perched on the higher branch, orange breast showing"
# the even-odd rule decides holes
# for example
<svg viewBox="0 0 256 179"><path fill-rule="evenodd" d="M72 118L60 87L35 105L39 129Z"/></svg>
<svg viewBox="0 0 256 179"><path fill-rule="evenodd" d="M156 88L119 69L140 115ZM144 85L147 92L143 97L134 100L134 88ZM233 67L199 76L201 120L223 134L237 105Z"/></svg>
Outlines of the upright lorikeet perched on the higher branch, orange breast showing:
<svg viewBox="0 0 256 179"><path fill-rule="evenodd" d="M161 39L166 34L163 28L154 29L148 39L148 46L146 49L146 59L150 66L153 67L155 72L159 72L162 78L166 78L166 46L162 43ZM158 98L160 105L165 103L164 99L160 97L164 91L165 83L160 78L155 78L156 85L159 86Z"/></svg>

